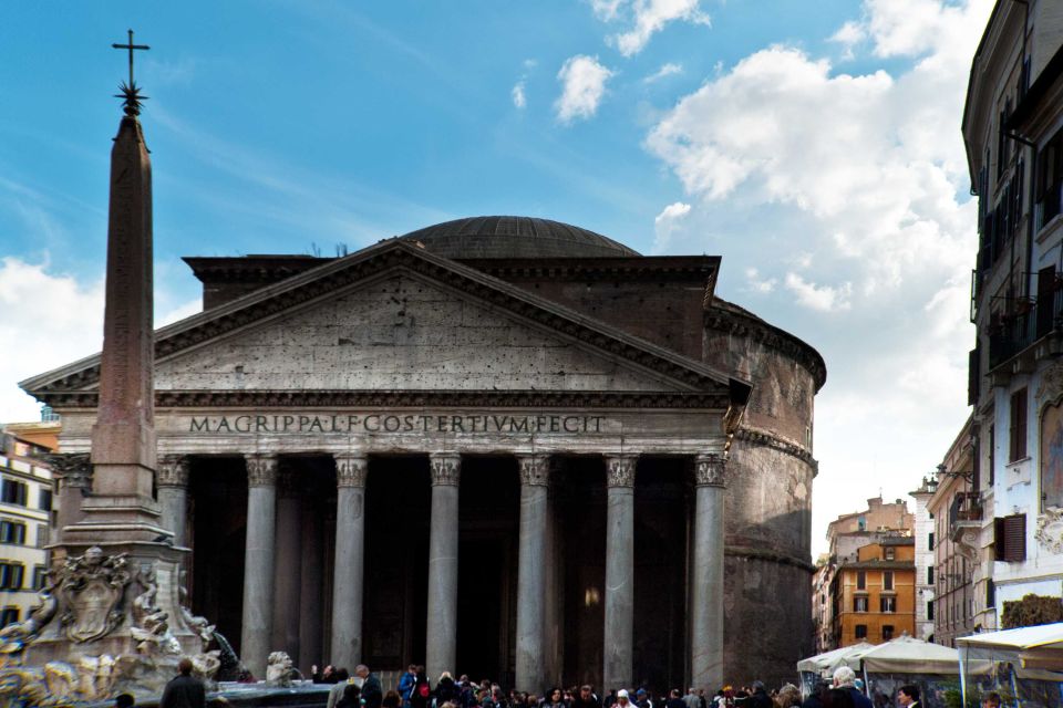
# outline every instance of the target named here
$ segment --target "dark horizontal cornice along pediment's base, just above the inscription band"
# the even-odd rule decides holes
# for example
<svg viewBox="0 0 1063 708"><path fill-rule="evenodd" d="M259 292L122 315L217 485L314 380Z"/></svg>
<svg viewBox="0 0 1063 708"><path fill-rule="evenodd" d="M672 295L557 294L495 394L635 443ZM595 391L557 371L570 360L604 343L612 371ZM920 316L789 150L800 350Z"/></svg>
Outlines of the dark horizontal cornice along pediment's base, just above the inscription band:
<svg viewBox="0 0 1063 708"><path fill-rule="evenodd" d="M96 392L38 398L56 409L95 408ZM155 408L381 407L670 408L726 410L726 393L592 391L156 391Z"/></svg>

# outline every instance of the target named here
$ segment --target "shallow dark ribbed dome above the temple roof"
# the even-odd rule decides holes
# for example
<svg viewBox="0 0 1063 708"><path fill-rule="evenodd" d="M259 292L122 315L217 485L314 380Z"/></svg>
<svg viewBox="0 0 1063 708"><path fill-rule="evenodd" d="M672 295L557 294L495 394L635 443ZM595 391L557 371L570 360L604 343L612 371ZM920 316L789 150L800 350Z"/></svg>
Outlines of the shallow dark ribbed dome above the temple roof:
<svg viewBox="0 0 1063 708"><path fill-rule="evenodd" d="M469 217L411 231L444 258L626 258L640 256L610 238L578 226L532 217Z"/></svg>

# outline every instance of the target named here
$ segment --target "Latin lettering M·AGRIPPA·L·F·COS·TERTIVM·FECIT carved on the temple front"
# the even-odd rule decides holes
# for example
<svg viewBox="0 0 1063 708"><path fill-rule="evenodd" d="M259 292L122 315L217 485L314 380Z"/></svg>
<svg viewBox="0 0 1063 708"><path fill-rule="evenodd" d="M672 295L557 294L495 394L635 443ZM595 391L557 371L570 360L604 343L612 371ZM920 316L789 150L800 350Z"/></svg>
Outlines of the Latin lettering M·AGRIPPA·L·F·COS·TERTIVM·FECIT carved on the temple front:
<svg viewBox="0 0 1063 708"><path fill-rule="evenodd" d="M236 415L193 416L188 433L286 434L286 433L512 433L578 434L601 433L605 416L582 415Z"/></svg>

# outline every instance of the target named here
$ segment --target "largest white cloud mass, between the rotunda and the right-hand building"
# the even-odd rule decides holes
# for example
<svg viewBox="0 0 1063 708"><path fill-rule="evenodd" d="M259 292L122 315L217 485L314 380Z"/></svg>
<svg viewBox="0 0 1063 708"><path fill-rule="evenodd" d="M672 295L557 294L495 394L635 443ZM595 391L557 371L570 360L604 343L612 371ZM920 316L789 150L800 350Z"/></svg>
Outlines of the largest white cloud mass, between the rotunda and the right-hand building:
<svg viewBox="0 0 1063 708"><path fill-rule="evenodd" d="M758 314L826 358L817 545L828 518L880 485L888 497L915 488L968 414L977 205L959 124L991 9L866 0L833 39L866 42L889 71L849 74L794 46L764 48L710 76L647 136L691 204L673 248L722 250L721 295L736 280L772 303ZM764 272L786 273L782 287L758 288L771 282Z"/></svg>

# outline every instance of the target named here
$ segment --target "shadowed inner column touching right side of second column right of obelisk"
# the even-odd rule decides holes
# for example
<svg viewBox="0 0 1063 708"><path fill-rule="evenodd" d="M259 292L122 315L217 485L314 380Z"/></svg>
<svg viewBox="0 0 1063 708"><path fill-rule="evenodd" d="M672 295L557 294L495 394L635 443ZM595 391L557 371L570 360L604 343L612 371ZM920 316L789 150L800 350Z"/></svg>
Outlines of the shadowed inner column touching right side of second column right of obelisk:
<svg viewBox="0 0 1063 708"><path fill-rule="evenodd" d="M287 652L299 658L300 560L299 477L286 465L277 477L277 523L274 545L274 626L270 652Z"/></svg>

